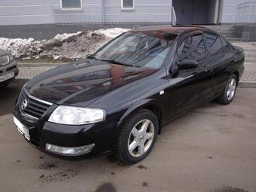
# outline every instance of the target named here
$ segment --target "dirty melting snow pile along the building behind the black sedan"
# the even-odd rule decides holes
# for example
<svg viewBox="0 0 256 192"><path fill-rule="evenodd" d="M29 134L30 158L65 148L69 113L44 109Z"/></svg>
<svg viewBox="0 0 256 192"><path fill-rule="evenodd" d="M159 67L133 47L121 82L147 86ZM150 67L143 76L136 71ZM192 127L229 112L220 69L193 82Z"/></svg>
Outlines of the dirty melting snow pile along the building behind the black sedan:
<svg viewBox="0 0 256 192"><path fill-rule="evenodd" d="M0 38L0 48L10 50L17 59L37 59L45 56L53 59L81 59L128 30L130 29L114 28L64 33L42 41L35 41L33 38Z"/></svg>

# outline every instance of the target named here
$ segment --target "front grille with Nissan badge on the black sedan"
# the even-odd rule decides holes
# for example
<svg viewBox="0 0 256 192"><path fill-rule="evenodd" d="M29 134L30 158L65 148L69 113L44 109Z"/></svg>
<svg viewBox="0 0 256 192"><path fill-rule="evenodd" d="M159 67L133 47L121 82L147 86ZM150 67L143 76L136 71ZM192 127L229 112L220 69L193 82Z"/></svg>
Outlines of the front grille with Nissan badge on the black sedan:
<svg viewBox="0 0 256 192"><path fill-rule="evenodd" d="M25 104L24 104L25 103ZM34 96L31 96L25 89L20 93L19 107L21 114L26 117L39 119L45 111L52 105L50 102L45 102Z"/></svg>

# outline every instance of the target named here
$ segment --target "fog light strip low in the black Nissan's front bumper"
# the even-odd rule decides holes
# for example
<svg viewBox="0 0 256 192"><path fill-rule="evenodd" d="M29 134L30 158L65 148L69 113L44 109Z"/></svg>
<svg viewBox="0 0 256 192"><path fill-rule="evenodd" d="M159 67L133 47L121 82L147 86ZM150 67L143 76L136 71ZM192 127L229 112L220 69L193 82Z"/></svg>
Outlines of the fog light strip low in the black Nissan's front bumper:
<svg viewBox="0 0 256 192"><path fill-rule="evenodd" d="M74 148L66 148L66 147L59 147L56 145L46 144L45 150L53 152L54 154L60 154L65 156L78 156L82 154L87 154L90 151L93 150L94 143L91 145L84 145L80 147L74 147Z"/></svg>

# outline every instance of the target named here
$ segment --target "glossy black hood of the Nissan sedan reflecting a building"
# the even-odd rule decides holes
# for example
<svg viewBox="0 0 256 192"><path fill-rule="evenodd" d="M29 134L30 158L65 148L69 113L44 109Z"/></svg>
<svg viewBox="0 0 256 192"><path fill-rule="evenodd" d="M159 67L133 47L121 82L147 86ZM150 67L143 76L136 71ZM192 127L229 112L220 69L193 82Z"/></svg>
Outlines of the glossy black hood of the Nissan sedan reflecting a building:
<svg viewBox="0 0 256 192"><path fill-rule="evenodd" d="M155 72L85 59L44 72L26 84L29 94L59 105L87 106L111 90Z"/></svg>

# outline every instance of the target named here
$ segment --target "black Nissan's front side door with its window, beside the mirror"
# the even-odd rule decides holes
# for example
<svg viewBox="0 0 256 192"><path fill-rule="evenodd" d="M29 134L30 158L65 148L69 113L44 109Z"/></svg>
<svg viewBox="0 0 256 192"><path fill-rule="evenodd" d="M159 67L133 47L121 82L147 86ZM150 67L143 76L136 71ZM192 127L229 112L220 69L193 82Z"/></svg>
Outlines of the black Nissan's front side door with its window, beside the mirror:
<svg viewBox="0 0 256 192"><path fill-rule="evenodd" d="M211 93L212 70L202 34L189 35L178 45L172 67L182 59L194 59L196 69L179 69L175 77L169 78L169 117L175 117L199 105L200 97Z"/></svg>

